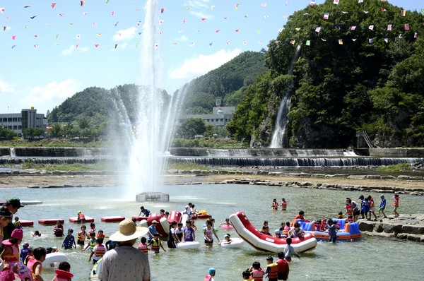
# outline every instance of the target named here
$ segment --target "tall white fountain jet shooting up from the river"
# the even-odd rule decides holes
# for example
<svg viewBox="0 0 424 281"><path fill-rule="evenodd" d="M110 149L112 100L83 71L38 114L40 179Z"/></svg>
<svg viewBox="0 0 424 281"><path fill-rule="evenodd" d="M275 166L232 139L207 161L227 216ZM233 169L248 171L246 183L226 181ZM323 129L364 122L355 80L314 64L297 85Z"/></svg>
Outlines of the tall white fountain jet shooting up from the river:
<svg viewBox="0 0 424 281"><path fill-rule="evenodd" d="M126 112L120 112L129 143L128 169L124 195L134 198L137 193L160 191L165 167L165 148L170 138L172 121L170 111L164 112L165 101L159 90L162 62L158 53L158 0L146 1L146 17L141 42L141 76L138 83L136 118L130 121ZM119 106L118 108L123 108Z"/></svg>

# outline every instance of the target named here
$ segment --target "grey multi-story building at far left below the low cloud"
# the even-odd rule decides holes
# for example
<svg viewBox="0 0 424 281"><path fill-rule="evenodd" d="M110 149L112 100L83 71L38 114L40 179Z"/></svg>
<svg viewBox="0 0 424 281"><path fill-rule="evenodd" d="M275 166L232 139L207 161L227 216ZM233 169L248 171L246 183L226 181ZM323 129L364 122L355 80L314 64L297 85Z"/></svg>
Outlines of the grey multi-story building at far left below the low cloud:
<svg viewBox="0 0 424 281"><path fill-rule="evenodd" d="M45 129L47 118L31 107L31 109L22 109L20 113L0 113L0 126L20 134L27 128Z"/></svg>

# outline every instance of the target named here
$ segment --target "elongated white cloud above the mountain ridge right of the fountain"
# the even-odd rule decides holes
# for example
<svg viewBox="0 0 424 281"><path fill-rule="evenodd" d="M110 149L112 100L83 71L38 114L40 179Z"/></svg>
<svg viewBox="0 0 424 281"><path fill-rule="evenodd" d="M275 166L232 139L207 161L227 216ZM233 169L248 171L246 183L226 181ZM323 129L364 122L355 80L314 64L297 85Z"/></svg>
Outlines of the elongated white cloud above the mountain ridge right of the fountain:
<svg viewBox="0 0 424 281"><path fill-rule="evenodd" d="M233 49L230 51L221 49L214 54L201 54L192 59L186 59L181 66L170 72L170 78L191 80L222 66L226 62L235 58L238 54L240 54L240 49Z"/></svg>

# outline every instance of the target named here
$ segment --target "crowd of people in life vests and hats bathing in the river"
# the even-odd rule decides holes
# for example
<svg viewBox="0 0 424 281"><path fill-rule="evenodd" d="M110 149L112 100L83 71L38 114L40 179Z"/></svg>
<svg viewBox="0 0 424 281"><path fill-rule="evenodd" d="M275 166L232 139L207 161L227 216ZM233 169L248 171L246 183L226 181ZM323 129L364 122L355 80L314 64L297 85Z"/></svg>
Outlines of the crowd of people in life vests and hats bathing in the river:
<svg viewBox="0 0 424 281"><path fill-rule="evenodd" d="M381 201L379 203L378 214L375 213L375 201L372 196L360 196L360 203L353 201L351 198L346 198L345 208L346 213L339 212L338 218L347 217L349 222L356 222L359 220L359 216L364 220L378 220L380 213L383 215L382 218L387 218L385 213L386 199L384 195L379 196ZM287 209L287 201L285 198L282 199L281 205L278 204L276 199L273 199L271 207L273 210ZM399 194L394 195L394 217L399 217L397 209L399 208ZM13 215L18 212L19 208L24 206L20 203L18 198L12 198L7 201L0 209L0 261L1 268L0 280L14 280L15 274L20 275L22 280L43 280L42 279L42 262L48 253L58 251L56 247L47 248L30 247L28 242L23 243L23 248L20 250L19 245L23 239L23 229L20 225L18 217L13 220ZM196 241L196 226L192 220L192 215L196 214L194 204L188 203L184 208L184 214L189 215L189 219L186 222L171 222L170 231L167 237L167 248L176 248L178 243L185 243L190 241ZM151 215L151 211L141 206L140 214L148 217ZM169 212L161 209L159 211L160 217L168 217ZM86 223L86 217L81 211L78 212L78 222L81 224ZM278 260L274 262L273 257L269 256L266 258L266 269L262 269L258 261L255 261L252 266L242 273L243 280L262 280L266 277L269 280L287 280L289 268L288 262L291 261L292 256L300 258L298 253L295 252L293 246L291 246L292 239L295 237L302 237L305 232L300 227L299 221L305 220L305 212L302 210L296 215L293 221L281 222L281 228L275 232L276 237L284 238L287 246L284 251L278 253ZM138 227L136 220L125 219L119 223L119 231L112 234L109 240L104 243L107 235L99 229L96 233L95 224L90 224L90 229L86 231L86 225L81 225L81 229L78 232L77 239L73 237L73 229L68 229L67 234L64 235L64 227L61 221L58 221L54 226L53 235L55 237L63 237L64 241L61 245L63 249L76 249L76 245L80 245L82 251L90 250L90 256L88 261L93 260L93 264L97 263L100 258L103 259L103 265L101 267L98 276L100 280L150 280L150 266L148 263L147 254L148 251L159 253L160 249L166 251L163 244L160 241L160 234L156 229L158 222L153 220L151 226ZM185 224L185 226L184 226ZM203 228L204 244L206 246L213 246L213 241L216 239L218 244L230 244L232 239L230 234L225 234L224 238L220 240L216 234L216 228L214 226L215 220L209 218L206 220L206 225ZM220 223L219 226L230 226L230 221L227 218L225 222ZM336 241L336 232L339 229L336 222L333 220L316 220L316 229L321 231L329 232L329 241ZM267 221L264 221L261 231L264 234L269 234L269 225ZM144 235L148 236L144 237ZM41 235L35 231L35 236ZM134 248L134 244L137 239L141 237L141 241L137 248ZM56 248L56 249L55 249ZM131 259L134 258L134 259ZM136 261L136 263L131 263ZM125 264L126 269L119 270ZM56 277L54 280L71 280L72 274L70 273L71 265L67 262L59 264L59 268L56 270ZM216 275L216 270L210 268L208 275L205 280L213 281ZM135 278L135 276L137 276ZM140 279L141 278L141 279Z"/></svg>

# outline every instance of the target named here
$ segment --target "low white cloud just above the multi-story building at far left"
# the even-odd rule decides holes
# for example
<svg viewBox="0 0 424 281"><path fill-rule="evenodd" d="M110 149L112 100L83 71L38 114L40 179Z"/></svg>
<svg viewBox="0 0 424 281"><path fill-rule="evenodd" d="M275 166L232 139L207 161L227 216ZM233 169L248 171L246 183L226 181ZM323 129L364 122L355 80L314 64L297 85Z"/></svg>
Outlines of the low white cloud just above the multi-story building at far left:
<svg viewBox="0 0 424 281"><path fill-rule="evenodd" d="M28 90L28 95L25 95L20 100L22 108L30 106L37 107L54 107L55 105L66 100L78 92L80 83L73 79L67 79L62 82L52 81L47 85L35 86ZM36 102L37 104L34 104ZM51 108L50 108L51 109Z"/></svg>

